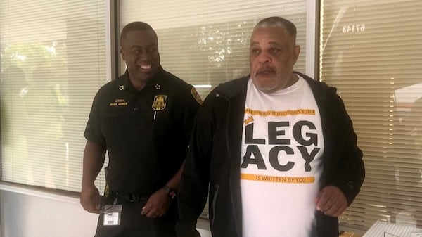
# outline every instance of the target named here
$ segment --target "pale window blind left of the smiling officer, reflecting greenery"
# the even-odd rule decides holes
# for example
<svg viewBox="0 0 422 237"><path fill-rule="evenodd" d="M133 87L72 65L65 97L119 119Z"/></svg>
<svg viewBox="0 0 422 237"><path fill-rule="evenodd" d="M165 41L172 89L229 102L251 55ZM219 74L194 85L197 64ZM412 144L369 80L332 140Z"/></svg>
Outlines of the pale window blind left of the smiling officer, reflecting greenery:
<svg viewBox="0 0 422 237"><path fill-rule="evenodd" d="M105 11L102 0L0 1L2 180L80 191L84 127L106 83Z"/></svg>

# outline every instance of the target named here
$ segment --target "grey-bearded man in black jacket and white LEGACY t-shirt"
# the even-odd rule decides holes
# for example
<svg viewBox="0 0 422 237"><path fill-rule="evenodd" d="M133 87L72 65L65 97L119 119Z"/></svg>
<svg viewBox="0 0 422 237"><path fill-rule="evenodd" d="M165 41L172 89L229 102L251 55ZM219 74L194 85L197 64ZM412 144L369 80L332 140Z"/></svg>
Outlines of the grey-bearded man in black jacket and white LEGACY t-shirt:
<svg viewBox="0 0 422 237"><path fill-rule="evenodd" d="M335 88L293 72L295 37L290 21L261 20L250 75L204 101L179 187L179 236L195 236L208 194L215 237L338 236L364 181L362 151Z"/></svg>

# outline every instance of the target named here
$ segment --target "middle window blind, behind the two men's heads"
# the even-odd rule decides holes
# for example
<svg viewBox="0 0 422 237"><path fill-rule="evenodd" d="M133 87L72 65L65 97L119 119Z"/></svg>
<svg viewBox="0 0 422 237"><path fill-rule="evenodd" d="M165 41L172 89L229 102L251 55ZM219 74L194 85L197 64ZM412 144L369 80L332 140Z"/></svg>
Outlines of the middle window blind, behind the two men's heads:
<svg viewBox="0 0 422 237"><path fill-rule="evenodd" d="M219 83L248 75L252 28L269 16L295 23L301 46L295 70L305 72L304 0L122 1L121 5L120 30L132 21L150 24L158 34L163 68L196 86L203 99Z"/></svg>

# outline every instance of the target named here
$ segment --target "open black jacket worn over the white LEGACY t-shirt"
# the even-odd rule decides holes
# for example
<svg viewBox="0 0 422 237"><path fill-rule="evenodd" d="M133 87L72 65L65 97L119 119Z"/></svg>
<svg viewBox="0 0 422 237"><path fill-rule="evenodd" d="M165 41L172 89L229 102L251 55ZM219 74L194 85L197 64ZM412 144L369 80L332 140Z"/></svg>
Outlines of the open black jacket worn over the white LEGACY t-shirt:
<svg viewBox="0 0 422 237"><path fill-rule="evenodd" d="M335 88L298 74L312 88L321 114L325 141L321 188L337 186L350 205L359 193L365 175L362 151L357 147L352 121L343 101L335 94ZM194 227L208 193L212 236L242 236L241 136L249 78L219 85L207 96L198 112L179 187L179 226L184 226L180 236L194 236L186 227ZM338 236L338 219L317 213L318 236Z"/></svg>

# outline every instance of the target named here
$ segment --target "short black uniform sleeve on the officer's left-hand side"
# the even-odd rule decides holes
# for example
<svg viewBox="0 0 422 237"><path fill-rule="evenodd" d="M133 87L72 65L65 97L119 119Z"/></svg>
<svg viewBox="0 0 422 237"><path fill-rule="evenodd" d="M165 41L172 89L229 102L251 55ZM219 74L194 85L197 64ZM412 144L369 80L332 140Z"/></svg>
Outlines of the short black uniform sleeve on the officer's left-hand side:
<svg viewBox="0 0 422 237"><path fill-rule="evenodd" d="M100 92L96 94L94 102L92 103L91 112L89 113L89 119L87 127L85 127L84 136L87 140L93 141L100 146L106 146L106 139L101 131L101 115L100 115Z"/></svg>

